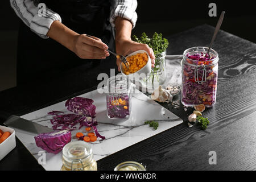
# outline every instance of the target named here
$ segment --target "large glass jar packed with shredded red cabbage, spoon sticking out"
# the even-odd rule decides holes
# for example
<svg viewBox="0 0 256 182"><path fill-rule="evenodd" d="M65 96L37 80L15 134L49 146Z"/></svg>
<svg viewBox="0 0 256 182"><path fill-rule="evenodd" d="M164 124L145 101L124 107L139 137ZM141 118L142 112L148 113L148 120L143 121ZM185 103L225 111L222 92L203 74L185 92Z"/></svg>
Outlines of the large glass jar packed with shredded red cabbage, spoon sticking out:
<svg viewBox="0 0 256 182"><path fill-rule="evenodd" d="M211 107L216 102L218 53L210 49L205 60L207 51L208 47L192 47L183 53L181 102L185 106Z"/></svg>

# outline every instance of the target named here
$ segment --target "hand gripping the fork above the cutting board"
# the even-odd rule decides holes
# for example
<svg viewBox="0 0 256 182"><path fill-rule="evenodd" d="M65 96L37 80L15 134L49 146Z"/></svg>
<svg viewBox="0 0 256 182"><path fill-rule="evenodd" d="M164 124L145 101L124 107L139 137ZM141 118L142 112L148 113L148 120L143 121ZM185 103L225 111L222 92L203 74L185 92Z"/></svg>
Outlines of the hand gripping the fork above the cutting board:
<svg viewBox="0 0 256 182"><path fill-rule="evenodd" d="M76 35L73 40L73 52L81 59L105 59L109 56L108 46L101 39L86 34Z"/></svg>

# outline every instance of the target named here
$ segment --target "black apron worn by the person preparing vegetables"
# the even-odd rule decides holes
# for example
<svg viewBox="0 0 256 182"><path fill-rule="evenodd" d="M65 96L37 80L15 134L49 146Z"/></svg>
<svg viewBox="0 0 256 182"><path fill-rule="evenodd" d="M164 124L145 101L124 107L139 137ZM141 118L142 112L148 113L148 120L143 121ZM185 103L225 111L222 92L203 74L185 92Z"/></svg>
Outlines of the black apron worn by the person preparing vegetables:
<svg viewBox="0 0 256 182"><path fill-rule="evenodd" d="M44 0L40 1L61 16L65 26L79 34L93 35L114 50L114 38L109 23L110 1L108 0ZM104 65L105 64L105 65ZM106 66L108 65L108 66ZM61 77L82 66L92 79L102 69L115 68L115 61L80 59L55 40L42 39L24 23L20 24L17 56L17 85L47 81ZM75 79L75 78L74 78ZM79 78L77 78L79 79Z"/></svg>

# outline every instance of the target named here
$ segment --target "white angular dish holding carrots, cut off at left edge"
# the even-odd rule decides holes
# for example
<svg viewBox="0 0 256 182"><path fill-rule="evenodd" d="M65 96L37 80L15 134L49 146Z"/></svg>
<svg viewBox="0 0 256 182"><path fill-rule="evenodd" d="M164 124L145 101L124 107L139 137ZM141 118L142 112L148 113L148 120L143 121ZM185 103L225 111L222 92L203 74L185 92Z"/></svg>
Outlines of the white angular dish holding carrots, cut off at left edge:
<svg viewBox="0 0 256 182"><path fill-rule="evenodd" d="M0 125L0 129L3 132L9 131L11 135L6 138L5 141L0 143L0 160L2 160L11 150L16 147L16 140L15 140L15 131L10 127L5 127Z"/></svg>

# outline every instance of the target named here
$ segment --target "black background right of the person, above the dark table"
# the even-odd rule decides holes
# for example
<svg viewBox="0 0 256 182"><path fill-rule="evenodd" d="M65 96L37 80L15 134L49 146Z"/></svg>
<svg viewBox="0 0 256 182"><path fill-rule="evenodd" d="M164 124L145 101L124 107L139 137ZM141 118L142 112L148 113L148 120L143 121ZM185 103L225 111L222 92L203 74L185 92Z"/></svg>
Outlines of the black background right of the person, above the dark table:
<svg viewBox="0 0 256 182"><path fill-rule="evenodd" d="M208 15L209 3L216 3L217 17ZM254 3L253 3L254 2ZM256 43L255 1L138 1L138 21L134 34L162 32L175 34L200 24L216 26L221 11L225 18L221 30ZM210 41L210 40L209 40Z"/></svg>

